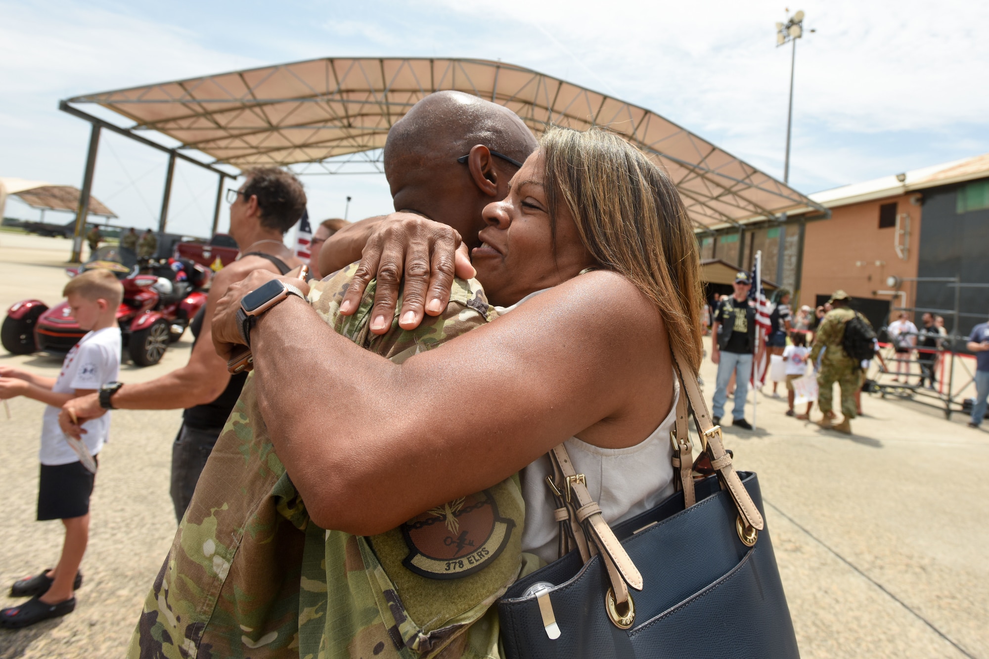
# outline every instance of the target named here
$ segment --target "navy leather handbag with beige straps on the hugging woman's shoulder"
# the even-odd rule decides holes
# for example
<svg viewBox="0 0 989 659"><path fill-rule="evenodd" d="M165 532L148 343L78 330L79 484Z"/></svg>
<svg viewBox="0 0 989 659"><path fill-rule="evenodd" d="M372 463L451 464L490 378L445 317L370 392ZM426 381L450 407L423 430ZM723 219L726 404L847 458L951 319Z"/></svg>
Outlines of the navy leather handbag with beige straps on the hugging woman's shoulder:
<svg viewBox="0 0 989 659"><path fill-rule="evenodd" d="M499 600L508 659L799 657L759 481L732 468L696 374L676 362L678 491L609 528L584 475L562 444L554 448L547 485L559 506L563 557ZM702 446L696 461L690 416Z"/></svg>

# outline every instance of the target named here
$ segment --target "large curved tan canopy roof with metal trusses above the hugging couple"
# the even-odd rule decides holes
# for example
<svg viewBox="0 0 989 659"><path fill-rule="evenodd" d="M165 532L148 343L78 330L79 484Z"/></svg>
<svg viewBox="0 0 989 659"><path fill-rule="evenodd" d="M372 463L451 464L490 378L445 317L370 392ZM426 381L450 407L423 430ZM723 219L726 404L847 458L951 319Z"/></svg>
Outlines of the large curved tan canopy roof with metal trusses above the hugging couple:
<svg viewBox="0 0 989 659"><path fill-rule="evenodd" d="M382 148L422 97L458 90L515 112L539 136L551 125L603 126L649 153L705 228L818 205L756 167L645 108L538 71L481 59L327 57L87 94L217 162L241 169L321 162ZM823 208L821 210L824 210Z"/></svg>

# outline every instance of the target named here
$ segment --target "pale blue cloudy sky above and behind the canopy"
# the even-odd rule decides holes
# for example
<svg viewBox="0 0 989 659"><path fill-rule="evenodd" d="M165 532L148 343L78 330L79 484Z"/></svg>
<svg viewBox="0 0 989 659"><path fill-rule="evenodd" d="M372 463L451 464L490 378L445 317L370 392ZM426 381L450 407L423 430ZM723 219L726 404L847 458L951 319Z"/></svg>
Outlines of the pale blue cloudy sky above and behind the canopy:
<svg viewBox="0 0 989 659"><path fill-rule="evenodd" d="M796 53L798 190L989 151L989 3L0 0L0 176L80 185L88 125L57 111L62 98L321 56L406 55L500 58L562 77L781 178L790 51L775 47L773 23L787 9L816 29ZM165 160L105 134L94 194L121 224L152 226ZM380 175L305 182L317 219L341 216L348 195L351 219L390 210ZM169 229L207 235L215 194L212 174L180 164ZM7 215L38 217L17 201Z"/></svg>

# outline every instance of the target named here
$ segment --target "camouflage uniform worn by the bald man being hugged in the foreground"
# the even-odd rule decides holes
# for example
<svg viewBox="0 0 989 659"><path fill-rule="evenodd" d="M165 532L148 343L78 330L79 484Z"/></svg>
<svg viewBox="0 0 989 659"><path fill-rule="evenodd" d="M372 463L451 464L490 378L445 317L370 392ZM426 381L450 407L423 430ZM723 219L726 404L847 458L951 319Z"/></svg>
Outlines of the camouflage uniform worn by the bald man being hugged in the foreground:
<svg viewBox="0 0 989 659"><path fill-rule="evenodd" d="M393 361L494 319L480 285L458 279L442 315L404 330L396 311L390 331L372 334L373 284L356 314L338 314L355 270L316 282L312 304L337 332ZM519 532L488 569L445 582L403 571L393 556L397 531L363 538L310 521L248 378L145 601L129 656L418 658L451 643L455 656L492 655L491 605L538 559L521 555L517 477L490 491Z"/></svg>

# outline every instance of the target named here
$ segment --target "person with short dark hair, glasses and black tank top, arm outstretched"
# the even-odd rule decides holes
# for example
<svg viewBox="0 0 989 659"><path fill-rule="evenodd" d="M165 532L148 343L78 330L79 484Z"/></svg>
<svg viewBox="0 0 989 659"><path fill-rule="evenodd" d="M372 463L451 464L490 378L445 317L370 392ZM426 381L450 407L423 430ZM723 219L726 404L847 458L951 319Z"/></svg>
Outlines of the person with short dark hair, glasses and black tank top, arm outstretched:
<svg viewBox="0 0 989 659"><path fill-rule="evenodd" d="M254 270L285 274L302 265L283 236L299 222L306 208L302 183L288 171L274 167L254 169L237 190L227 190L230 202L229 234L240 245L237 260L213 279L206 306L190 323L196 342L189 363L160 378L138 384L105 385L106 391L69 401L59 423L66 432L71 410L80 424L103 416L108 409L174 410L185 408L182 427L172 444L171 495L175 517L181 521L196 490L213 445L240 396L246 374L230 377L226 361L213 347L212 319L217 300L227 287ZM101 400L102 398L102 400Z"/></svg>

